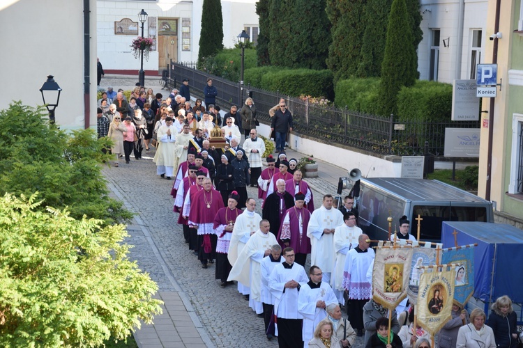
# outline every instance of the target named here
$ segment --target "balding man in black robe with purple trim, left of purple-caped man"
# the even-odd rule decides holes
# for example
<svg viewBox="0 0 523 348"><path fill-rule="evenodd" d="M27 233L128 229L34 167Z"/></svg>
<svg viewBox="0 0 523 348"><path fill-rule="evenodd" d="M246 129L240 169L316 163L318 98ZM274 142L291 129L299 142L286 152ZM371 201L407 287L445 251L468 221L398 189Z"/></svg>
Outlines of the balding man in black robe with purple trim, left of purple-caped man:
<svg viewBox="0 0 523 348"><path fill-rule="evenodd" d="M271 224L271 232L275 237L278 235L285 212L294 207L294 198L289 192L285 191L285 181L278 180L276 187L278 190L267 196L265 205L261 209L261 218L266 219Z"/></svg>

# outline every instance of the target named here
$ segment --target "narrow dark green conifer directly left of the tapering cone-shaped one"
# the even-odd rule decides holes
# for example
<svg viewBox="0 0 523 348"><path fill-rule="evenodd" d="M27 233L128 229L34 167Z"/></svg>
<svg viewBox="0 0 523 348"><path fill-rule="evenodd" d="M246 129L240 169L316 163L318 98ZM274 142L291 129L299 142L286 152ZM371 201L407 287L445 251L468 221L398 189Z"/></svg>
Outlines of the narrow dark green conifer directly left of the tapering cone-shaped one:
<svg viewBox="0 0 523 348"><path fill-rule="evenodd" d="M393 0L367 0L366 27L356 77L379 77Z"/></svg>

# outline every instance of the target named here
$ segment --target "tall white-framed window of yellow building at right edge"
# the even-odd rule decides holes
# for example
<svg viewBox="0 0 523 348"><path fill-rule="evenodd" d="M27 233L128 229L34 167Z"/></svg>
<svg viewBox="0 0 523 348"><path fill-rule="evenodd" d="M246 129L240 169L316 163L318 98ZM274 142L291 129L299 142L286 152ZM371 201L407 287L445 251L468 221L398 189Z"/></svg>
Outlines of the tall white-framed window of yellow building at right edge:
<svg viewBox="0 0 523 348"><path fill-rule="evenodd" d="M510 155L510 183L508 193L523 193L523 114L514 113L512 119L512 154Z"/></svg>

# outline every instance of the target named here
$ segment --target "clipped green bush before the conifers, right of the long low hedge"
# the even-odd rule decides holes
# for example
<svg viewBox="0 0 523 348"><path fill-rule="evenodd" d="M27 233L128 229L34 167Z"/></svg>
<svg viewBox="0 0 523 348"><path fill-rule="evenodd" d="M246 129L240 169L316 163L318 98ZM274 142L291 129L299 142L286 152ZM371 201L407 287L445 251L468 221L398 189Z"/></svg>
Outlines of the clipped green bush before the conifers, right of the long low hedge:
<svg viewBox="0 0 523 348"><path fill-rule="evenodd" d="M378 85L377 77L341 80L334 89L334 104L338 107L347 106L349 110L376 113Z"/></svg>

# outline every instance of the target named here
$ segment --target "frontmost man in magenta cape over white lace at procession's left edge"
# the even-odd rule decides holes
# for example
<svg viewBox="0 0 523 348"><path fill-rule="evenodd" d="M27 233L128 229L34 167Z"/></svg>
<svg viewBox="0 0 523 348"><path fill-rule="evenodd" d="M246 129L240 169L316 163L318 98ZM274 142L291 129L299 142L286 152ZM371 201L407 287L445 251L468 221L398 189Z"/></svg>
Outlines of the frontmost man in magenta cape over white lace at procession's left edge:
<svg viewBox="0 0 523 348"><path fill-rule="evenodd" d="M229 272L232 269L227 253L229 253L229 244L231 243L232 230L238 215L243 213L241 209L236 208L238 205L240 195L236 191L232 191L229 195L227 207L218 210L214 217L214 230L218 236L218 243L216 244L216 274L215 278L220 279L221 287L226 287L229 284L234 284L234 281L227 282Z"/></svg>

